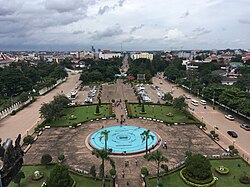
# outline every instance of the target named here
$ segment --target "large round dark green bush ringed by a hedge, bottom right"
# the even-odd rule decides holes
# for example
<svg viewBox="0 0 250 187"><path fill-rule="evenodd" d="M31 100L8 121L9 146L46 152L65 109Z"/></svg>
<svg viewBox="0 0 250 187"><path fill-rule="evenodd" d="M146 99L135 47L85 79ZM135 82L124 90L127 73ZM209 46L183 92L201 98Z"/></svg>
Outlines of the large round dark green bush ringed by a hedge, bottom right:
<svg viewBox="0 0 250 187"><path fill-rule="evenodd" d="M205 180L212 177L210 161L201 154L189 156L185 161L186 174L195 180Z"/></svg>

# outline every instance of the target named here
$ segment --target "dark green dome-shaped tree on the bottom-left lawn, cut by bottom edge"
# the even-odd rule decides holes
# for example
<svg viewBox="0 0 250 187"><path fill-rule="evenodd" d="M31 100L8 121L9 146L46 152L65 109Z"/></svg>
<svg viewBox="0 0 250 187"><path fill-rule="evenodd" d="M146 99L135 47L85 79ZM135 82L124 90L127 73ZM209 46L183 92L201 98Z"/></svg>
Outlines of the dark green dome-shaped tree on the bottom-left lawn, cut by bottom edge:
<svg viewBox="0 0 250 187"><path fill-rule="evenodd" d="M72 179L69 175L68 169L61 165L57 164L53 167L50 172L50 176L47 179L48 187L69 187L72 185Z"/></svg>

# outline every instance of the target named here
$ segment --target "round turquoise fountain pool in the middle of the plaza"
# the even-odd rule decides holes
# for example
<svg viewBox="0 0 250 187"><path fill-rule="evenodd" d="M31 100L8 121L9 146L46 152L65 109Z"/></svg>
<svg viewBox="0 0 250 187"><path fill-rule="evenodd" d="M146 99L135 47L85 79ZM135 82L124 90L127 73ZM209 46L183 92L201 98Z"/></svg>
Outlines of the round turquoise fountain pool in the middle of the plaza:
<svg viewBox="0 0 250 187"><path fill-rule="evenodd" d="M101 132L108 131L107 147L113 155L134 155L146 151L146 140L141 134L148 129L138 126L110 126L95 131L88 136L88 144L92 149L104 149L105 138ZM156 133L150 131L148 150L154 149L160 142Z"/></svg>

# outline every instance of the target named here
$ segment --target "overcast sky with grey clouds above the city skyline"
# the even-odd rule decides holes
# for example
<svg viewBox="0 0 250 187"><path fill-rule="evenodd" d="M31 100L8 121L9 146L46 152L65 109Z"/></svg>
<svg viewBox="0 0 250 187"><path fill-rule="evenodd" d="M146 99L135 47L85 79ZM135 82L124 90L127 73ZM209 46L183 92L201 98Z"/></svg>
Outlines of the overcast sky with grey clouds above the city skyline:
<svg viewBox="0 0 250 187"><path fill-rule="evenodd" d="M250 48L250 0L0 3L0 50Z"/></svg>

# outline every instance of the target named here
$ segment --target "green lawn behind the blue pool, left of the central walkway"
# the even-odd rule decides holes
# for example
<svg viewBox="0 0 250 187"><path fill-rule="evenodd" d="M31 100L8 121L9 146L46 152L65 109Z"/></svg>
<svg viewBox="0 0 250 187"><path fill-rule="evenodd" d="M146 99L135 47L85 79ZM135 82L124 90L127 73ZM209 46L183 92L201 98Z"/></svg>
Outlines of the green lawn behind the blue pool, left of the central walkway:
<svg viewBox="0 0 250 187"><path fill-rule="evenodd" d="M47 123L46 125L50 125L53 127L63 127L70 126L72 124L89 121L92 119L109 117L110 116L110 105L101 105L100 107L100 115L95 115L96 105L88 105L88 106L80 106L80 107L71 107L66 108L62 111L63 116L51 123ZM74 115L76 119L70 119L71 116Z"/></svg>

